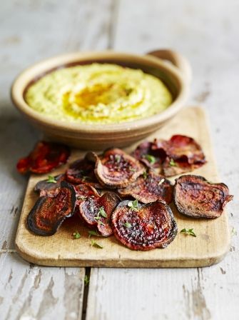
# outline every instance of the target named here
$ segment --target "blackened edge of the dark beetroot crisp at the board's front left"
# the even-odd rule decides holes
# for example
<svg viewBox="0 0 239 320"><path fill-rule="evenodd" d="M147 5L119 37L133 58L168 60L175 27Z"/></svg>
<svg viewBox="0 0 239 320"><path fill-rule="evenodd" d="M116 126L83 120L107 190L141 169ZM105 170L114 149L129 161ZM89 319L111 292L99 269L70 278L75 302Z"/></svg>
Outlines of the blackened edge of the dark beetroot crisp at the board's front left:
<svg viewBox="0 0 239 320"><path fill-rule="evenodd" d="M76 191L74 187L71 184L68 184L68 182L66 181L61 181L61 188L67 188L71 191L71 207L72 207L71 212L68 215L63 216L62 219L59 220L55 226L52 226L52 230L49 232L36 228L34 224L35 212L39 208L39 206L41 207L44 204L44 201L46 201L46 199L49 198L48 196L41 196L34 204L34 207L31 209L26 219L26 223L27 223L27 226L29 227L29 230L32 231L34 234L37 234L39 236L52 236L56 233L56 231L59 229L59 227L61 226L61 224L66 218L73 216L75 206L76 206Z"/></svg>

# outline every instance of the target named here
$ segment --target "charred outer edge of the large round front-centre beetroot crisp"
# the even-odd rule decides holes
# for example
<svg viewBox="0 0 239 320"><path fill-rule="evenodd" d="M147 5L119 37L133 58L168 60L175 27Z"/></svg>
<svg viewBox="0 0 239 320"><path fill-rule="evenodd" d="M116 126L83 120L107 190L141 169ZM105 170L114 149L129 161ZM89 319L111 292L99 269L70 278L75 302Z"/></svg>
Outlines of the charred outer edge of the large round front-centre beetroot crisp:
<svg viewBox="0 0 239 320"><path fill-rule="evenodd" d="M129 200L123 200L121 201L118 206L116 206L116 209L120 208L120 207L126 207L126 209L130 210L130 208L128 208L128 202ZM155 244L151 244L150 246L147 246L147 247L143 247L141 246L139 248L138 246L138 249L134 248L130 242L127 242L127 241L124 241L125 239L123 239L123 237L121 236L118 236L118 230L116 229L116 226L115 226L115 223L116 221L118 221L118 214L117 214L117 211L116 209L113 211L113 214L111 216L111 220L112 220L112 229L113 229L113 234L114 236L116 236L116 239L118 239L118 241L121 242L121 244L123 244L124 246L127 246L128 249L131 249L131 250L136 250L136 251L148 251L148 250L151 250L151 249L156 249L156 248L159 248L159 249L164 249L168 246L168 244L171 244L171 242L175 239L176 235L178 234L178 226L177 226L177 223L176 223L176 220L174 219L174 216L173 216L173 212L170 208L170 206L168 206L168 204L166 204L165 202L163 201L155 201L155 202L151 202L149 204L141 204L140 205L140 209L142 207L146 207L146 206L151 206L152 204L156 204L156 203L160 203L160 204L163 204L163 206L165 206L166 208L166 211L169 215L169 219L171 219L171 222L172 222L172 226L171 226L171 233L169 234L168 236L168 239L163 242L163 244L157 244L157 242Z"/></svg>

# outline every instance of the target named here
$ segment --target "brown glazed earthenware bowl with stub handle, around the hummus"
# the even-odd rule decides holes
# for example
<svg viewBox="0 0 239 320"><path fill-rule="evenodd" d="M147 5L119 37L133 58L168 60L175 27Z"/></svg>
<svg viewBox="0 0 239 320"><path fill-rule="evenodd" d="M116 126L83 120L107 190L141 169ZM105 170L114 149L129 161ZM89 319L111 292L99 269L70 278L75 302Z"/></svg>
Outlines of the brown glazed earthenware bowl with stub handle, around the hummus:
<svg viewBox="0 0 239 320"><path fill-rule="evenodd" d="M170 61L171 63L169 63ZM113 63L142 69L161 79L173 95L173 103L165 111L148 118L120 124L83 124L55 121L31 109L24 100L29 85L55 69L77 64ZM146 55L115 51L78 52L55 56L23 71L11 87L11 99L31 124L52 141L59 141L81 149L105 149L109 146L129 146L146 138L177 114L185 104L190 84L190 66L183 56L171 50L153 51Z"/></svg>

